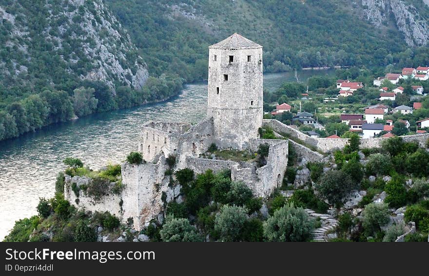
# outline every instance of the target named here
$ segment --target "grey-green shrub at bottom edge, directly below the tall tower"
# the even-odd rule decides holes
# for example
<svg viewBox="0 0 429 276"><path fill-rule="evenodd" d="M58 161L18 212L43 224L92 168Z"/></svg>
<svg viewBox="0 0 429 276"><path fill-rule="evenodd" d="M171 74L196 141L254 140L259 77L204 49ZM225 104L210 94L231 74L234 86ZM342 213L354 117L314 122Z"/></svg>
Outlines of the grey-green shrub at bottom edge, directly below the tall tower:
<svg viewBox="0 0 429 276"><path fill-rule="evenodd" d="M215 230L222 241L239 241L246 220L245 207L223 205L215 217Z"/></svg>

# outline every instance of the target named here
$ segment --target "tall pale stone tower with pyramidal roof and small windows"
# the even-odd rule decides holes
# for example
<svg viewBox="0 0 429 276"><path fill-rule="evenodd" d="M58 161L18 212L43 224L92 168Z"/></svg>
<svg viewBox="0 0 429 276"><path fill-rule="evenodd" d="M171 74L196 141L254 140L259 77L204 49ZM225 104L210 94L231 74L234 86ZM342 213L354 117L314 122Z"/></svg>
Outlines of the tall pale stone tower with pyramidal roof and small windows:
<svg viewBox="0 0 429 276"><path fill-rule="evenodd" d="M209 47L208 117L221 148L242 149L262 126L262 46L238 34Z"/></svg>

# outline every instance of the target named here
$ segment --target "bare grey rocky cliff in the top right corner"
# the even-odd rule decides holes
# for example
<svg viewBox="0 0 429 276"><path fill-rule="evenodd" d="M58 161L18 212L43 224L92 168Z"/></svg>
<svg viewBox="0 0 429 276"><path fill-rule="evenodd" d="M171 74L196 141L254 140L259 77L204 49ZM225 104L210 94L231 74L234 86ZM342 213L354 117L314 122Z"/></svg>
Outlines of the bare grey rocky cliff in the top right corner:
<svg viewBox="0 0 429 276"><path fill-rule="evenodd" d="M425 1L426 4L429 1ZM376 27L394 24L409 46L423 46L429 41L427 7L421 0L361 0L363 17Z"/></svg>

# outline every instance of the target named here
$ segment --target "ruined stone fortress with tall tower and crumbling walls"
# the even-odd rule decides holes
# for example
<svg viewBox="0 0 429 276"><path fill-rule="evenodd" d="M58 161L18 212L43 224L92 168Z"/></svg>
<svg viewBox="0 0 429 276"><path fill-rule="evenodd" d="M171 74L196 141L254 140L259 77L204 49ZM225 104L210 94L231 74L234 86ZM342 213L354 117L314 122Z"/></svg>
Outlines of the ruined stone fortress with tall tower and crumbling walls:
<svg viewBox="0 0 429 276"><path fill-rule="evenodd" d="M181 202L180 186L169 187L166 158L176 157L174 170L190 168L196 174L208 169L231 170L233 180L243 181L254 196L268 197L281 185L288 160L288 140L260 139L263 124L262 46L234 34L209 47L207 118L196 125L183 122L147 122L142 126L138 151L147 161L122 164L120 195L96 201L71 191L68 177L65 197L78 207L109 211L126 222L133 218L140 230L151 219L162 220L164 203ZM267 164L201 158L212 143L220 149L256 152L268 144ZM80 179L81 180L81 179Z"/></svg>

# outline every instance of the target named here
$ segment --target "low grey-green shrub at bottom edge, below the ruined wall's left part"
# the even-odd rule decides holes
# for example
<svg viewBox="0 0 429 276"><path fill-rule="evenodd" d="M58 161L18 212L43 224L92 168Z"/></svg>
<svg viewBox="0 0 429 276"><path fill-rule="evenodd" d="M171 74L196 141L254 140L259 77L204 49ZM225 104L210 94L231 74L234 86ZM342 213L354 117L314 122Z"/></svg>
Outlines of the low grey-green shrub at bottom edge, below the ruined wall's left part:
<svg viewBox="0 0 429 276"><path fill-rule="evenodd" d="M159 231L162 241L202 241L196 229L186 218L168 218Z"/></svg>

